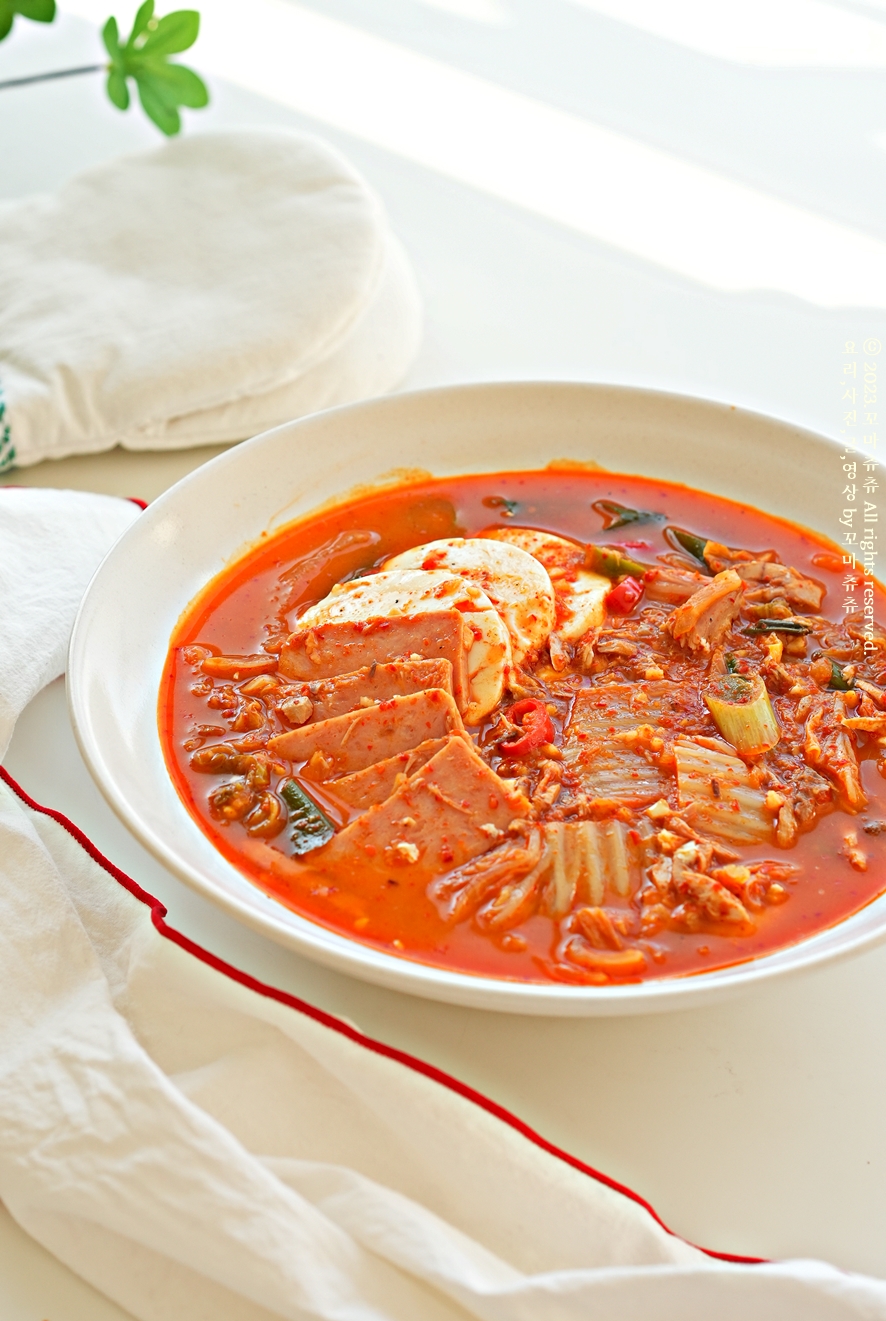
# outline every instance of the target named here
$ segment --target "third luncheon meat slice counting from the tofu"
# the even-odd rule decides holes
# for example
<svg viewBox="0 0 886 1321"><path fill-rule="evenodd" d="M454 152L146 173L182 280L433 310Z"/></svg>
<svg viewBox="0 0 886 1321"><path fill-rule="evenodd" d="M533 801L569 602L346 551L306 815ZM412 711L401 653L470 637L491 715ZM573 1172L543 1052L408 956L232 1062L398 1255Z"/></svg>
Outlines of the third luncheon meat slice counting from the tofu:
<svg viewBox="0 0 886 1321"><path fill-rule="evenodd" d="M429 688L290 729L269 738L268 752L304 764L309 779L338 779L456 731L463 733L456 703Z"/></svg>

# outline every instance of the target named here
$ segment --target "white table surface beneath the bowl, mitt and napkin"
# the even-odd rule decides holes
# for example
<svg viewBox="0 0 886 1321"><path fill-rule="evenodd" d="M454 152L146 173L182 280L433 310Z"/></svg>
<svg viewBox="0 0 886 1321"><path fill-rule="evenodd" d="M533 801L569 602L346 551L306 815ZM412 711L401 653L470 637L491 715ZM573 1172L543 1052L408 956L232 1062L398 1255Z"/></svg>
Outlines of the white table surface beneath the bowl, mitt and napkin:
<svg viewBox="0 0 886 1321"><path fill-rule="evenodd" d="M67 8L104 16L91 0ZM213 107L190 115L187 129L308 127L364 172L426 303L407 387L622 382L838 433L845 341L886 342L882 0L316 0L313 9L252 0L236 11L210 0L202 9L205 38L190 58L210 75ZM129 13L120 17L125 25ZM337 42L359 77L345 78L343 61L312 85L312 62ZM94 58L86 18L50 29L17 20L0 78ZM372 77L379 61L390 77ZM424 90L413 103L404 89L416 71ZM456 104L477 118L475 135L458 139ZM403 136L411 116L423 124L419 145ZM493 144L489 176L469 159L473 136L478 152ZM104 102L95 78L0 92L0 196L53 188L154 140L133 112ZM614 169L613 143L623 148ZM559 178L574 170L577 201L551 201L549 160ZM724 193L724 181L741 186ZM721 211L705 238L697 218L709 203ZM211 453L115 452L4 481L151 498ZM5 765L161 897L173 925L494 1096L630 1184L687 1238L886 1276L886 950L681 1015L573 1021L437 1005L314 967L164 872L82 766L61 682L25 712ZM123 1317L1 1209L0 1314Z"/></svg>

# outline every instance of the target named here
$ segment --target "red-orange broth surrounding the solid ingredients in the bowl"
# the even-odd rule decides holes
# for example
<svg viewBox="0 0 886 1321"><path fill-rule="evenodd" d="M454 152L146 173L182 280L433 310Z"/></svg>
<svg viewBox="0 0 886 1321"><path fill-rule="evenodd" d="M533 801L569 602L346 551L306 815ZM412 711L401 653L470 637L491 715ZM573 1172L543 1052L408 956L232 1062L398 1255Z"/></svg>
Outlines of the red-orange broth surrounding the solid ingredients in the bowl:
<svg viewBox="0 0 886 1321"><path fill-rule="evenodd" d="M665 515L667 523L636 522L606 530L607 519L593 507L599 501L656 511ZM376 569L387 557L425 542L470 538L491 527L514 526L543 530L576 543L621 548L625 555L650 564L656 563L656 556L671 555L675 550L673 542L665 538L665 526L689 528L725 547L774 550L783 564L824 584L827 594L820 614L835 625L844 621L842 577L846 569L829 543L782 519L718 497L667 482L578 469L426 480L360 494L309 515L263 539L203 589L182 616L170 643L160 695L165 757L182 801L219 852L261 890L325 927L388 954L467 974L592 984L625 980L625 976L610 978L599 970L592 976L581 970L574 976L568 968L564 971L564 960L557 955L562 931L541 908L516 929L491 935L477 919L446 919L428 886L409 880L408 867L391 876L354 859L347 868L329 876L318 863L322 849L308 855L304 865L288 865L285 832L267 840L256 860L255 847L242 824L222 822L210 811L209 794L223 775L199 773L191 766L197 749L231 740L247 749L251 744L261 746L269 734L285 728L281 723L272 728L272 721L265 719L252 729L232 729L238 703L231 704L228 691L228 704L224 704L224 694L219 696L223 686L213 687L201 672L201 654L236 657L261 654L267 649L273 659L289 629L297 624L298 613L324 598L334 584ZM877 585L878 618L886 617L885 605L883 592ZM644 608L648 606L640 601L634 618L639 618ZM757 645L747 642L751 651ZM194 651L189 650L194 646L203 649L197 653L197 663ZM813 653L809 645L805 657L794 658L791 664L796 672L809 668ZM864 672L875 687L879 670L886 679L886 650L878 646L871 657ZM646 680L631 672L629 660L615 657L603 659L602 668L599 664L598 657L596 671L574 676L573 694L610 682L643 690ZM699 680L704 668L699 667ZM215 705L207 705L210 699ZM243 700L238 700L242 725ZM569 720L569 703L560 700L553 705L557 744ZM700 704L697 708L693 719L708 720L697 728L716 737L717 729L704 708ZM846 709L852 712L853 708ZM469 731L486 756L493 748L490 729L487 720ZM644 951L646 967L639 976L697 974L757 958L840 922L883 890L886 781L878 770L881 754L874 738L862 734L856 741L861 783L868 797L861 811L849 814L832 803L790 848L766 843L735 849L741 855L739 864L768 859L792 868L775 886L779 901L754 910L753 929L735 934L728 923L713 919L696 921L695 929L692 923L677 929L668 918L664 926L652 926L640 937L636 892L606 893L606 913L617 929L629 931L631 941ZM498 765L503 766L500 761ZM335 819L341 804L334 793L325 798L322 786L314 786L313 793ZM594 811L599 815L598 807ZM848 843L852 831L857 843L854 855L852 839ZM267 865L268 849L281 859L280 865ZM865 869L860 869L862 865Z"/></svg>

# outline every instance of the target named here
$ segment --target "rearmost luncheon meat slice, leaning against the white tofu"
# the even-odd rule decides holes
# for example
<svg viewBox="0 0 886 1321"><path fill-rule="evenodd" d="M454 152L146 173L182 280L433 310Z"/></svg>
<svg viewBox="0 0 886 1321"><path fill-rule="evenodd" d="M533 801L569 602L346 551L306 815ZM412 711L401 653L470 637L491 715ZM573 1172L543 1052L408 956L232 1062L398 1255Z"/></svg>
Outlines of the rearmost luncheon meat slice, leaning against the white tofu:
<svg viewBox="0 0 886 1321"><path fill-rule="evenodd" d="M296 630L280 654L280 674L310 682L392 660L449 660L452 692L463 711L469 701L467 651L473 643L474 634L461 610L339 620Z"/></svg>

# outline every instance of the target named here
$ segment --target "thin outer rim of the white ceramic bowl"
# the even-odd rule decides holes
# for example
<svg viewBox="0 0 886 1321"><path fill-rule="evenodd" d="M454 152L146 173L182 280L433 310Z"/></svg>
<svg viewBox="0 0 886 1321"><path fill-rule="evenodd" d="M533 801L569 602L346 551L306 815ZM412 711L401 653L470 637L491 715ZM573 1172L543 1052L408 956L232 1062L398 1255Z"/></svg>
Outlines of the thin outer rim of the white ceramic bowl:
<svg viewBox="0 0 886 1321"><path fill-rule="evenodd" d="M222 454L210 458L207 462L193 469L173 486L168 487L151 502L139 519L111 547L92 575L87 589L82 597L67 653L66 692L67 705L74 736L86 762L90 774L98 785L100 793L110 807L124 823L139 843L148 849L169 872L184 881L203 898L221 906L236 921L252 927L260 934L284 945L296 952L331 967L338 972L358 976L360 979L397 989L426 999L444 1003L471 1005L475 1008L495 1009L510 1013L532 1013L549 1016L609 1016L609 1015L635 1015L648 1012L664 1012L668 1009L684 1009L699 1003L710 1003L739 991L749 991L761 984L767 984L774 979L794 975L801 971L811 971L825 964L837 962L850 955L873 948L886 941L886 913L879 927L868 931L848 933L846 938L835 943L824 941L829 933L845 927L858 914L850 914L835 926L827 927L811 937L800 938L796 942L782 946L770 954L750 958L742 963L728 968L700 970L693 974L681 974L671 978L655 978L647 982L629 983L625 985L610 984L605 987L576 987L562 983L524 982L519 979L491 978L482 974L462 972L430 963L423 963L415 958L387 954L375 946L351 939L321 923L305 918L285 905L277 904L277 913L263 911L255 902L247 902L236 894L226 892L222 886L203 875L180 853L169 847L165 840L147 826L132 810L132 806L119 790L114 777L108 773L102 756L100 740L95 736L95 729L90 720L88 704L85 695L81 675L87 667L88 659L88 627L95 609L100 609L100 593L103 585L121 556L125 556L127 547L135 538L143 536L151 526L151 520L158 520L166 514L170 506L174 509L178 502L186 499L193 487L199 487L205 482L207 472L223 472L228 466L236 466L244 461L254 450L268 444L271 437L280 437L283 433L298 435L301 428L316 425L318 420L335 417L347 419L353 415L367 415L371 412L396 412L397 408L415 407L416 404L433 404L453 395L479 398L490 392L506 391L516 395L537 395L539 392L565 391L581 392L585 398L602 399L615 398L627 402L642 400L652 406L691 408L695 412L710 410L717 413L729 413L739 423L765 424L768 428L790 431L799 440L809 440L816 445L825 444L835 450L840 443L820 433L798 427L794 423L771 417L751 410L737 408L720 400L709 400L692 395L683 395L671 391L646 390L636 386L610 386L605 383L573 382L573 380L533 380L533 382L478 382L463 386L442 386L426 390L404 391L379 399L364 400L354 404L345 404L337 408L322 410L298 417L293 421L283 423L269 431L261 432L250 440L231 445ZM304 515L298 514L297 518ZM285 526L281 523L280 527ZM275 532L279 527L275 527ZM247 543L248 544L248 543ZM228 563L234 563L244 552L246 546L234 548ZM182 609L187 608L185 602ZM160 737L157 733L157 744ZM162 753L161 753L162 754ZM180 801L180 808L194 830L199 827L191 814ZM201 831L201 836L206 836ZM223 855L218 855L223 857ZM227 860L224 860L227 861ZM232 864L227 864L232 868ZM232 868L234 869L234 868ZM246 877L246 873L238 875ZM248 877L246 877L248 881ZM256 896L265 897L265 893L250 882ZM870 904L886 900L885 896L874 898ZM885 905L886 906L886 905Z"/></svg>

